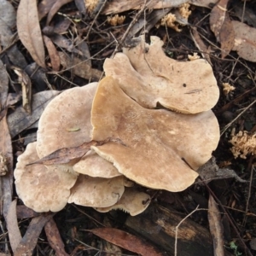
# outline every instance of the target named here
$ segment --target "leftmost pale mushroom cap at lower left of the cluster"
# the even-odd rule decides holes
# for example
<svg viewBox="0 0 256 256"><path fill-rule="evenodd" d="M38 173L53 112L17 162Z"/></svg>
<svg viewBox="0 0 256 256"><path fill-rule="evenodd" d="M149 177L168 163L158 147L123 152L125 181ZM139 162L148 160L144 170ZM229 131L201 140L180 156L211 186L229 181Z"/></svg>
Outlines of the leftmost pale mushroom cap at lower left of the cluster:
<svg viewBox="0 0 256 256"><path fill-rule="evenodd" d="M31 165L38 160L37 143L30 143L18 157L15 169L16 191L26 207L36 212L58 212L67 204L77 176L55 166Z"/></svg>

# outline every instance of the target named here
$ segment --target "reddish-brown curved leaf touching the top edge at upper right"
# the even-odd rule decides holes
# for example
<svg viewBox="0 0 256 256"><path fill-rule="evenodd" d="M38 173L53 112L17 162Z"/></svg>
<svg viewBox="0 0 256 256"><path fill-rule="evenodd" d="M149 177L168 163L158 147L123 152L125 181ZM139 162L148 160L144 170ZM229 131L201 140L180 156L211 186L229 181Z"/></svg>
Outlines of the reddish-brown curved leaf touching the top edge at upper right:
<svg viewBox="0 0 256 256"><path fill-rule="evenodd" d="M213 7L210 15L210 26L218 42L221 44L222 58L230 53L235 38L235 32L226 9L228 2L229 0L220 0Z"/></svg>

